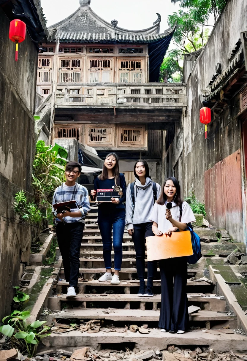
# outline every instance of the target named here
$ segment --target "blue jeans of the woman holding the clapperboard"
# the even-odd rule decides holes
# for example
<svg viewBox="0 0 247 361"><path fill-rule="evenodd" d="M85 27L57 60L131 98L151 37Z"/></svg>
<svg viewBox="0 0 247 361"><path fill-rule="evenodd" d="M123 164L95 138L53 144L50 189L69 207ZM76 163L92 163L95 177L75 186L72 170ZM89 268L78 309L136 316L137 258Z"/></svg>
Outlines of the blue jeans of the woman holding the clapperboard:
<svg viewBox="0 0 247 361"><path fill-rule="evenodd" d="M113 231L114 269L120 271L123 258L122 240L125 227L125 209L113 209L110 212L104 212L99 209L98 225L103 242L105 268L112 268Z"/></svg>

